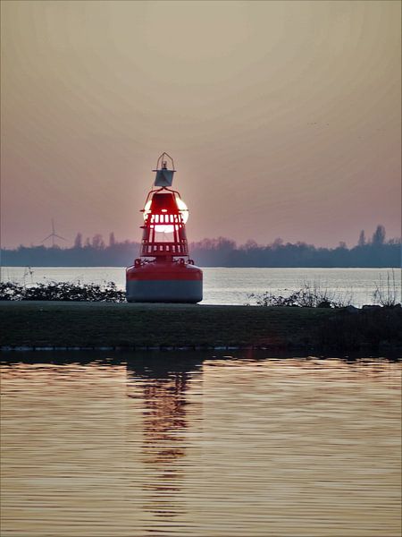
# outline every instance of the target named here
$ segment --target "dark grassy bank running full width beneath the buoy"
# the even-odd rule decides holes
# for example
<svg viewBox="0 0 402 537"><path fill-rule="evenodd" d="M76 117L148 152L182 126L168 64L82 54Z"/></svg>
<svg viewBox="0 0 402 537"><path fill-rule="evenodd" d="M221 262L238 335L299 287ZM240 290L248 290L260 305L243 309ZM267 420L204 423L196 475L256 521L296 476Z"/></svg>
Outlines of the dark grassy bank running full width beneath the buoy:
<svg viewBox="0 0 402 537"><path fill-rule="evenodd" d="M133 303L0 303L0 346L402 350L402 311Z"/></svg>

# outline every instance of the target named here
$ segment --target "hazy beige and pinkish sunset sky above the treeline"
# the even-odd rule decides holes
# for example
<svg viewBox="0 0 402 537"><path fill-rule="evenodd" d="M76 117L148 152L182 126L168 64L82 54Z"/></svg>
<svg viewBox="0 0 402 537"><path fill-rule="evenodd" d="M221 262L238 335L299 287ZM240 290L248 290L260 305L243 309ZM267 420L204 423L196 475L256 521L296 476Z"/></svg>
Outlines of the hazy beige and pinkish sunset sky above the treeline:
<svg viewBox="0 0 402 537"><path fill-rule="evenodd" d="M140 238L163 151L188 238L400 234L398 1L2 1L2 244Z"/></svg>

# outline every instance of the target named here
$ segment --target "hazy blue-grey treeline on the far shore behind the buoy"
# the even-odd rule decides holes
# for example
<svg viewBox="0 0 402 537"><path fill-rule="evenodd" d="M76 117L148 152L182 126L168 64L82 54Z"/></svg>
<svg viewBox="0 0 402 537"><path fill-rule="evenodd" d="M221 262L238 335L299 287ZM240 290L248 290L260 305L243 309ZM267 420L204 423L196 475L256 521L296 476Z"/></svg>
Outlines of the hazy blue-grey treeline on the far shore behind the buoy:
<svg viewBox="0 0 402 537"><path fill-rule="evenodd" d="M276 239L266 246L254 241L238 246L219 237L190 243L191 257L201 267L400 267L400 239L385 239L384 226L377 226L370 239L364 231L356 246L316 248L307 243L284 243ZM72 248L20 246L1 250L1 263L12 267L127 267L138 257L139 244L119 243L110 234L106 245L102 235L83 241L77 234Z"/></svg>

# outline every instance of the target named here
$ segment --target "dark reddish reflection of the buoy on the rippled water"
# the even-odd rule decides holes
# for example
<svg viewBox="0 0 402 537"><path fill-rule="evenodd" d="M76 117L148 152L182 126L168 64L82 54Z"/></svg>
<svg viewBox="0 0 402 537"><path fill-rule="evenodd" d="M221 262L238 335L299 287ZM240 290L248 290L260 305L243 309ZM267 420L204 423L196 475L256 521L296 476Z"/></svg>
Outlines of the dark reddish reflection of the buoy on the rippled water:
<svg viewBox="0 0 402 537"><path fill-rule="evenodd" d="M160 517L185 513L181 482L185 466L180 460L189 449L184 436L188 428L187 392L191 380L202 381L200 357L182 360L180 356L148 356L127 364L128 396L140 398L143 413L142 455L149 479L144 509ZM201 403L192 404L200 415ZM163 506L163 507L161 507Z"/></svg>

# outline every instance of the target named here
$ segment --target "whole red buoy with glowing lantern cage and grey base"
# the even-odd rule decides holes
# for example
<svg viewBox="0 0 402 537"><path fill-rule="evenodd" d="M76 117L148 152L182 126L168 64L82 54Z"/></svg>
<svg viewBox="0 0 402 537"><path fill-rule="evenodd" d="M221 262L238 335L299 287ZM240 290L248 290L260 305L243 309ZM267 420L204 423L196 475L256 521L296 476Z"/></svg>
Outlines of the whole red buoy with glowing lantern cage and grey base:
<svg viewBox="0 0 402 537"><path fill-rule="evenodd" d="M170 188L175 171L173 159L163 153L154 170L154 186L159 188L148 193L142 209L140 257L126 269L128 302L198 303L203 299L203 272L188 255L187 205Z"/></svg>

